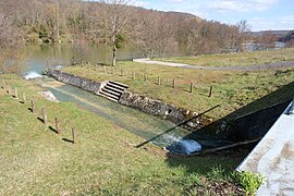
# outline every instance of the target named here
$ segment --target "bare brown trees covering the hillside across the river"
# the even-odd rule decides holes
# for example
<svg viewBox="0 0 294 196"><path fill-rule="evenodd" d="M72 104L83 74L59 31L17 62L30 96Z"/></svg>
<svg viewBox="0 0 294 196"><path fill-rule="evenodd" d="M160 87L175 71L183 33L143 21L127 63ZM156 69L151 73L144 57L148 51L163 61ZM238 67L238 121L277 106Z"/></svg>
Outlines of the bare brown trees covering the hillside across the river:
<svg viewBox="0 0 294 196"><path fill-rule="evenodd" d="M113 65L122 46L147 58L180 50L189 56L242 51L249 30L246 21L228 25L186 13L146 10L128 0L1 0L0 13L14 32L7 34L13 45L20 39L107 45L113 51Z"/></svg>

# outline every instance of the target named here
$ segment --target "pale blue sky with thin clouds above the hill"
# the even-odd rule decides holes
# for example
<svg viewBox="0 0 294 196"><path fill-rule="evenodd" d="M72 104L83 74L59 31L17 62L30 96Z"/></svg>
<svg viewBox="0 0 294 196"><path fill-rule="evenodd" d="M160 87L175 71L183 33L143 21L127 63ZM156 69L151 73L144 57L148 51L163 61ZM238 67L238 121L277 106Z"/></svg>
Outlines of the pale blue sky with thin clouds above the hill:
<svg viewBox="0 0 294 196"><path fill-rule="evenodd" d="M245 20L253 32L294 29L294 0L138 0L136 5L226 24Z"/></svg>

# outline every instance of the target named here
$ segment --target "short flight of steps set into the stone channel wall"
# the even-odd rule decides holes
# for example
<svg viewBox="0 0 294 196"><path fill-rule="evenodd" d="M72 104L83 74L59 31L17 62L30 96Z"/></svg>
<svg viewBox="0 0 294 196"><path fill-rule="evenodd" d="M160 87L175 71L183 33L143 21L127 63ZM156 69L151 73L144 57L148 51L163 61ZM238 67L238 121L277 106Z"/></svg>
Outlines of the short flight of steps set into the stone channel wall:
<svg viewBox="0 0 294 196"><path fill-rule="evenodd" d="M101 84L98 95L118 102L126 88L128 88L128 86L125 84L106 81Z"/></svg>

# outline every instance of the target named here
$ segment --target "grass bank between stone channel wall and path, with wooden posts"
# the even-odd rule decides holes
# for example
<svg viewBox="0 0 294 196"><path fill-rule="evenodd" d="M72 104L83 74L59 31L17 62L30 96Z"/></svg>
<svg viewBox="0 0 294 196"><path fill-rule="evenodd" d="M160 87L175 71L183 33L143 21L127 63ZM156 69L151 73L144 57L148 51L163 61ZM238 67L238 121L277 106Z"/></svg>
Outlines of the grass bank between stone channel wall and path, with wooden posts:
<svg viewBox="0 0 294 196"><path fill-rule="evenodd" d="M121 75L123 70L123 75ZM130 86L130 90L160 99L164 102L196 112L205 111L216 105L220 108L209 115L217 120L225 115L236 118L259 109L293 98L294 70L262 72L205 71L119 62L118 66L68 66L65 72L94 81L113 79ZM111 74L113 72L113 74ZM132 79L135 72L135 79ZM147 75L147 82L144 81ZM161 85L158 85L158 76ZM175 78L176 86L172 88ZM193 93L189 85L194 83ZM212 97L208 97L210 86ZM254 105L253 105L254 103Z"/></svg>

